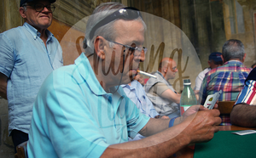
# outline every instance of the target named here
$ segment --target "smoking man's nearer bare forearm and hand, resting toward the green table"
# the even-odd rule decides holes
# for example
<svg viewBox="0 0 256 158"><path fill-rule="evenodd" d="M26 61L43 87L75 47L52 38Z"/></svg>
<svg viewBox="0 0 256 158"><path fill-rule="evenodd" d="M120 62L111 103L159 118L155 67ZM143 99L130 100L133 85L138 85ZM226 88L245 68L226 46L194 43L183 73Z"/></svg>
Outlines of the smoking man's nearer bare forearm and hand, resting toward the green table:
<svg viewBox="0 0 256 158"><path fill-rule="evenodd" d="M167 128L148 138L110 145L102 157L169 157L188 144L212 139L214 133L218 132L218 124L221 122L218 116L218 110L201 110L188 116L177 126ZM159 119L159 121L165 120ZM165 126L163 128L166 128L166 123L163 125Z"/></svg>

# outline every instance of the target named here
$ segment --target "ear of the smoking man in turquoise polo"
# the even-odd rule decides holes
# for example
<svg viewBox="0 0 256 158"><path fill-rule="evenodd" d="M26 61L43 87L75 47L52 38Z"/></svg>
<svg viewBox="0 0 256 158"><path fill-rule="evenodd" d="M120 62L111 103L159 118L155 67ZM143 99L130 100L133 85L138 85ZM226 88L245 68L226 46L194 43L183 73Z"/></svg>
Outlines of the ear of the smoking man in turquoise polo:
<svg viewBox="0 0 256 158"><path fill-rule="evenodd" d="M95 52L97 54L97 56L100 59L105 59L105 51L104 51L104 46L105 46L105 42L104 42L104 38L103 37L96 37L96 39L94 40L94 48L95 48Z"/></svg>

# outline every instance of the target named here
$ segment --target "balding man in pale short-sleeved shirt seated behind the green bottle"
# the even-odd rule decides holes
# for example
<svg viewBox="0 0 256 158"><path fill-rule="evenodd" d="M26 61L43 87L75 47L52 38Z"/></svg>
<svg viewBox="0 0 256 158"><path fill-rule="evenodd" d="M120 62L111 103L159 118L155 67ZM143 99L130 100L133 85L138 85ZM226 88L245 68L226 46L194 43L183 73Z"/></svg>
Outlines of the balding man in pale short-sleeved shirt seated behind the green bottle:
<svg viewBox="0 0 256 158"><path fill-rule="evenodd" d="M164 58L161 60L159 69L150 77L145 84L144 89L148 99L153 103L154 109L160 116L169 116L170 118L180 116L179 101L181 95L177 93L169 79L175 78L177 73L177 64L173 59Z"/></svg>

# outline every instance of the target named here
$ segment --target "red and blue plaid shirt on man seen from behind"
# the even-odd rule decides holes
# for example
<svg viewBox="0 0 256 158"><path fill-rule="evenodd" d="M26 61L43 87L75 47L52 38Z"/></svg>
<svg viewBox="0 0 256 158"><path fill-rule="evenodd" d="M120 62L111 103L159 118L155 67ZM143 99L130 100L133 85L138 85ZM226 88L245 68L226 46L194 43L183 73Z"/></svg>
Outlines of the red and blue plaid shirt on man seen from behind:
<svg viewBox="0 0 256 158"><path fill-rule="evenodd" d="M204 104L207 95L220 90L222 90L222 94L218 98L219 101L235 101L251 70L242 65L241 61L230 60L209 71L201 86L201 104ZM230 115L221 115L220 117L222 118L221 125L230 125Z"/></svg>

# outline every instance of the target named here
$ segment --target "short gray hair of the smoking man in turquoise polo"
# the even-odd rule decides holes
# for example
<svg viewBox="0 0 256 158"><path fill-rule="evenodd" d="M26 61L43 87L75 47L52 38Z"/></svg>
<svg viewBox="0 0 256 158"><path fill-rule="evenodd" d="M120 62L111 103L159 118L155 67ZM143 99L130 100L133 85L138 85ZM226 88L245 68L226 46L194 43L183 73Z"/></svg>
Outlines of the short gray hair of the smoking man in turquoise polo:
<svg viewBox="0 0 256 158"><path fill-rule="evenodd" d="M85 49L86 54L94 54L94 40L97 36L102 36L108 40L114 41L116 37L116 31L113 28L113 24L116 20L109 22L106 25L102 25L96 29L93 37L90 39L91 29L100 21L106 18L109 14L119 10L120 8L125 8L126 6L122 3L102 3L95 8L92 15L90 15L89 20L87 21L85 37L83 42L83 48ZM119 19L117 19L119 20ZM141 17L138 17L136 20L140 20L143 23L144 30L146 30L146 24ZM113 42L109 42L109 46L112 47Z"/></svg>

